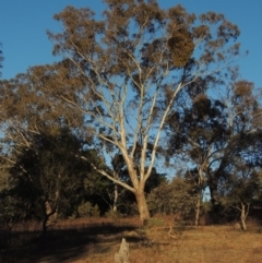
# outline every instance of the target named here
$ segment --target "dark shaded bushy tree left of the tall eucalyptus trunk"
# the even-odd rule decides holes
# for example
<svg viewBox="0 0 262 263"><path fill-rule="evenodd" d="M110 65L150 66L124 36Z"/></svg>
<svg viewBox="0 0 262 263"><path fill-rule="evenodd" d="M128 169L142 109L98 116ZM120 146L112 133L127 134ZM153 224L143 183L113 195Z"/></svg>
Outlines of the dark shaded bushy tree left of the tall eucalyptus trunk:
<svg viewBox="0 0 262 263"><path fill-rule="evenodd" d="M84 150L69 129L57 128L32 136L31 146L19 152L10 174L16 196L28 204L26 214L45 220L53 213L59 217L73 214L87 196L86 180L95 179L88 163L99 162L95 151ZM93 212L99 215L97 206Z"/></svg>

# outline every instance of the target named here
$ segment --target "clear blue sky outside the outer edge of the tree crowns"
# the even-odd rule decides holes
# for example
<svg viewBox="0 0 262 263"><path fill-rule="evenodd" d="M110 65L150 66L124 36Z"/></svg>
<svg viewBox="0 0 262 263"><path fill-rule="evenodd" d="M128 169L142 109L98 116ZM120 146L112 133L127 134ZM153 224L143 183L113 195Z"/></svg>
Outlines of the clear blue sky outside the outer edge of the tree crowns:
<svg viewBox="0 0 262 263"><path fill-rule="evenodd" d="M242 51L249 56L239 61L242 77L262 87L262 0L158 0L163 8L181 3L196 14L215 11L236 23ZM52 20L67 5L90 7L97 14L103 0L0 0L0 43L4 55L2 79L23 73L31 65L51 63L52 44L46 31L59 31Z"/></svg>

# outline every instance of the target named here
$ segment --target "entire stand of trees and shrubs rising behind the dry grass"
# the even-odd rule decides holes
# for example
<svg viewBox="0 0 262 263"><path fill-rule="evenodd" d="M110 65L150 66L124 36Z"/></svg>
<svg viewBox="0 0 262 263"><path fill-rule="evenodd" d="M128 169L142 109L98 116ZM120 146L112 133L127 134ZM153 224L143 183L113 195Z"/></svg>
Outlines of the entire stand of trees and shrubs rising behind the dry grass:
<svg viewBox="0 0 262 263"><path fill-rule="evenodd" d="M45 230L55 215L159 212L198 226L209 190L213 222L234 208L245 229L261 202L261 91L239 77L237 25L155 0L105 3L103 20L56 14L60 61L0 82L1 219Z"/></svg>

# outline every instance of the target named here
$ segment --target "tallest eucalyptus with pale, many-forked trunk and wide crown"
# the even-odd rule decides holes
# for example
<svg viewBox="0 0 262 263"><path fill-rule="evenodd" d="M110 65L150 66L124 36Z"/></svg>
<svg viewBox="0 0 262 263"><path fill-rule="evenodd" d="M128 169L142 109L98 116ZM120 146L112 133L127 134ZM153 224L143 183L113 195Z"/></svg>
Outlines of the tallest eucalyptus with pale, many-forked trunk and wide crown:
<svg viewBox="0 0 262 263"><path fill-rule="evenodd" d="M105 3L102 20L88 8L68 7L55 15L63 31L48 35L63 60L52 71L56 86L45 88L83 115L102 148L120 151L131 184L95 168L134 193L144 219L144 187L169 111L181 89L203 80L215 85L239 52L233 43L239 29L223 14L196 16L181 5L163 10L155 0Z"/></svg>

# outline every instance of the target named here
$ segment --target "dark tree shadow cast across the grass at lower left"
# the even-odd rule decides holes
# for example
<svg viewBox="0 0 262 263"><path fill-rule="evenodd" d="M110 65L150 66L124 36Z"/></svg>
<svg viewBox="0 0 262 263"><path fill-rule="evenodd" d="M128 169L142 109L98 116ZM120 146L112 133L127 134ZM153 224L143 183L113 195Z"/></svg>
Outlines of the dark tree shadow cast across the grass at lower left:
<svg viewBox="0 0 262 263"><path fill-rule="evenodd" d="M110 252L111 247L120 244L124 231L136 228L103 224L78 229L50 229L45 238L40 231L14 232L9 244L0 248L0 262L59 263L91 259L92 254ZM133 242L138 240L139 238L132 239ZM114 254L115 251L112 256Z"/></svg>

